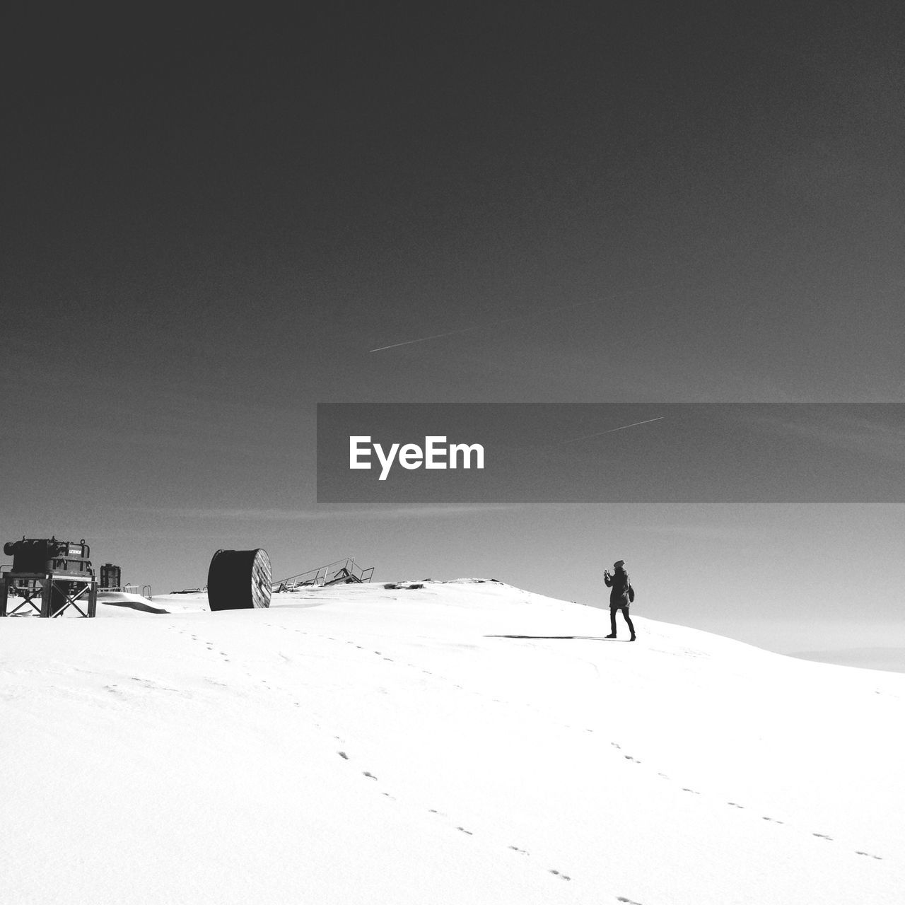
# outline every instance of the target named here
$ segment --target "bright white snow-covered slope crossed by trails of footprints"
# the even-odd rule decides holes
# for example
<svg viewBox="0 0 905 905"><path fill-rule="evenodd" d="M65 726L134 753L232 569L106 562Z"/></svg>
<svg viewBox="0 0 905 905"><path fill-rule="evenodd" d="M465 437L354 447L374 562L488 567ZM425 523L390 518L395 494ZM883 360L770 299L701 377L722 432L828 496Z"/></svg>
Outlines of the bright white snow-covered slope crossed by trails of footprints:
<svg viewBox="0 0 905 905"><path fill-rule="evenodd" d="M901 901L905 675L495 582L133 605L0 621L4 902Z"/></svg>

